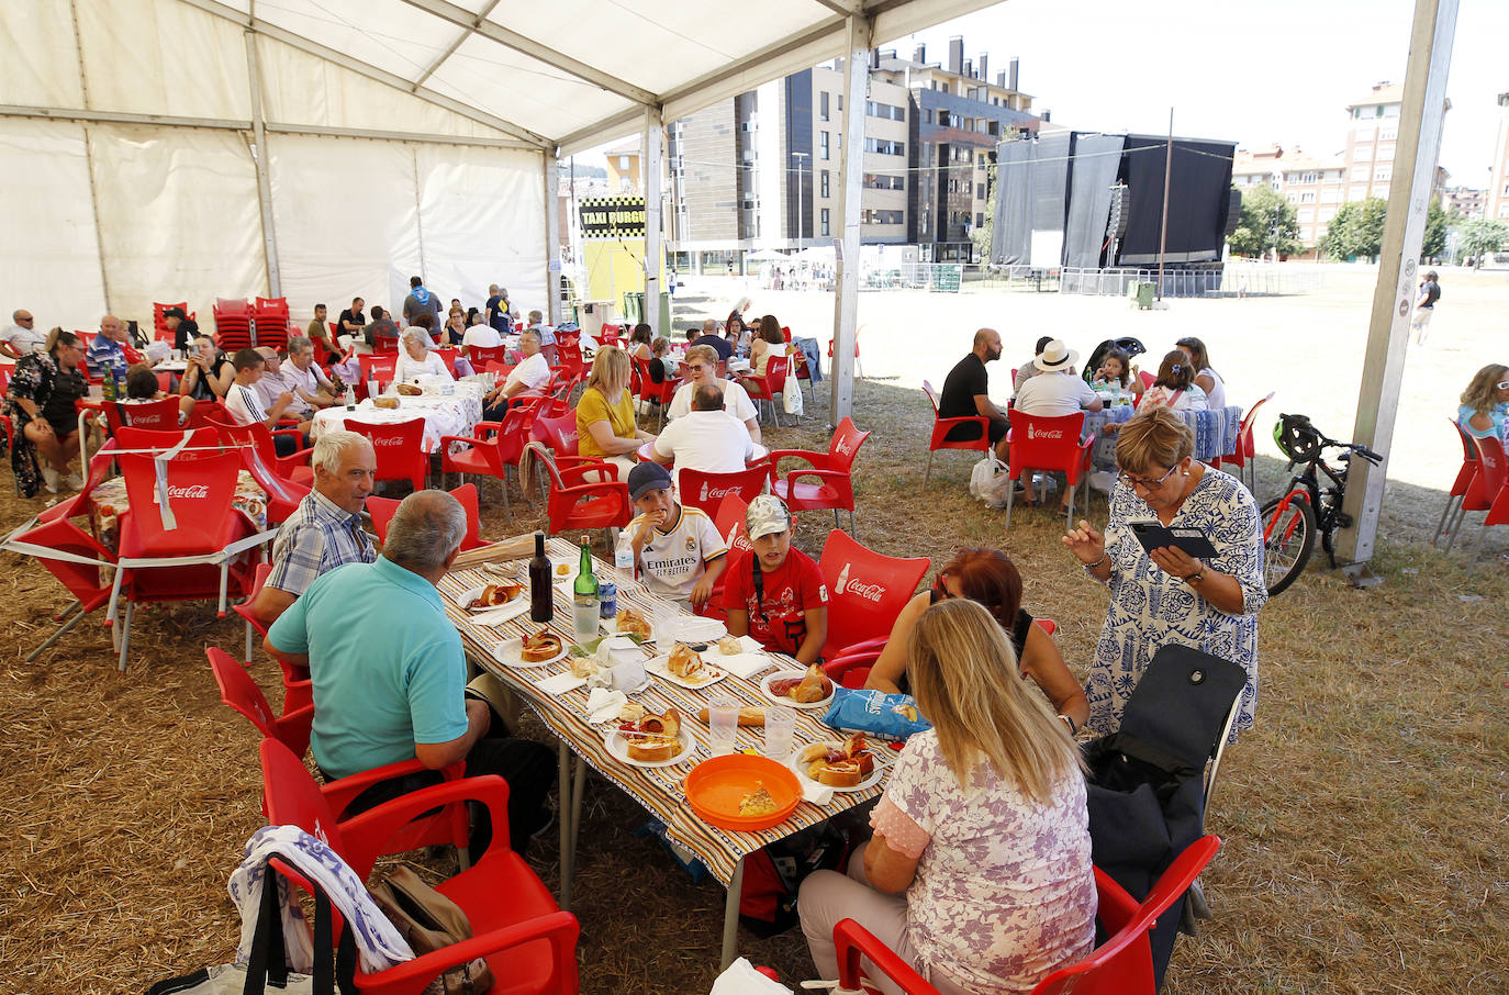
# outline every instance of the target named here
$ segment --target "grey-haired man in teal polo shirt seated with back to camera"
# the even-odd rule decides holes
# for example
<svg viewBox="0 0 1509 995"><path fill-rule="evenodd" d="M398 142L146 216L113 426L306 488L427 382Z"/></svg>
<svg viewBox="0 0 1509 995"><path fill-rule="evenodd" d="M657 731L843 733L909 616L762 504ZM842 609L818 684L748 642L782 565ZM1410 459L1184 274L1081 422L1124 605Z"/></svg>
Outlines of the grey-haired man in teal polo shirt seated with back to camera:
<svg viewBox="0 0 1509 995"><path fill-rule="evenodd" d="M466 661L445 618L436 581L466 534L466 512L444 491L406 497L374 563L321 574L267 633L269 652L303 663L314 681L309 744L320 772L346 778L418 758L429 770L373 785L343 817L436 784L442 767L466 761L466 775L509 782L515 850L549 821L545 794L555 755L530 740L507 738L486 702L463 696ZM489 732L492 734L489 735ZM471 835L477 859L492 838L484 809Z"/></svg>

